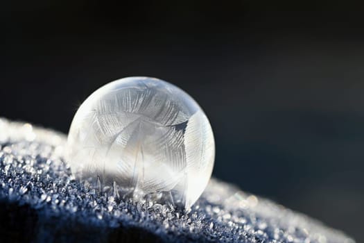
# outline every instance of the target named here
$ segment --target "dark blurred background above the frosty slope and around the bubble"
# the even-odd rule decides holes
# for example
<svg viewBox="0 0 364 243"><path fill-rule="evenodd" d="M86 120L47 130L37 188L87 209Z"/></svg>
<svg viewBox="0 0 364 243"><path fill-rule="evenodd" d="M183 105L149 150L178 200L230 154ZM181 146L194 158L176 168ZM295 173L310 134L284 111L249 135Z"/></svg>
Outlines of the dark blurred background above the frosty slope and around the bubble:
<svg viewBox="0 0 364 243"><path fill-rule="evenodd" d="M67 133L80 103L155 76L204 108L214 176L364 241L364 8L349 1L0 3L0 115Z"/></svg>

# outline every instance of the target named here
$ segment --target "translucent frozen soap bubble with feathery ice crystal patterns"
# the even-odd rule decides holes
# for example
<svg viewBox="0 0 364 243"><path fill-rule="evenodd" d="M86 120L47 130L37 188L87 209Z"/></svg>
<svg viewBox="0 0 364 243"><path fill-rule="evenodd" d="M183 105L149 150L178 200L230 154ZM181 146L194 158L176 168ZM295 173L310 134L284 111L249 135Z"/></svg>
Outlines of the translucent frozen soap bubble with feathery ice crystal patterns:
<svg viewBox="0 0 364 243"><path fill-rule="evenodd" d="M73 117L67 143L77 178L184 208L205 190L214 166L205 113L189 94L157 78L122 78L96 90Z"/></svg>

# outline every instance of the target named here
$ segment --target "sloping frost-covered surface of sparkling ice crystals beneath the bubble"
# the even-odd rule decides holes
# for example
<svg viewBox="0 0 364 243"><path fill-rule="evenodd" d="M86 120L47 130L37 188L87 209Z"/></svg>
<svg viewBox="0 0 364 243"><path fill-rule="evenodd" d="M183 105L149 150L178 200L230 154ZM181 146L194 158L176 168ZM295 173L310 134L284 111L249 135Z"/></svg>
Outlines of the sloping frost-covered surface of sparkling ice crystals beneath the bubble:
<svg viewBox="0 0 364 243"><path fill-rule="evenodd" d="M64 144L60 133L0 119L0 242L24 232L33 242L354 242L217 179L187 212L105 196L71 176Z"/></svg>

